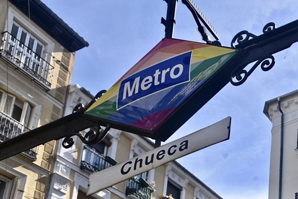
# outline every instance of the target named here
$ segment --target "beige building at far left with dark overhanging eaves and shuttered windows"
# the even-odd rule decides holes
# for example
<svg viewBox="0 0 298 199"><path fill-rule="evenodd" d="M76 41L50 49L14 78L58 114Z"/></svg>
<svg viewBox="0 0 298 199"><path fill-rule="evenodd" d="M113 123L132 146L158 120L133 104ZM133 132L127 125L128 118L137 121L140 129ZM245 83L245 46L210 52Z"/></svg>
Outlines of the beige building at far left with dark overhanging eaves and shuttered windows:
<svg viewBox="0 0 298 199"><path fill-rule="evenodd" d="M1 0L0 13L3 142L63 116L74 53L88 43L40 0ZM55 146L0 161L0 199L51 198Z"/></svg>

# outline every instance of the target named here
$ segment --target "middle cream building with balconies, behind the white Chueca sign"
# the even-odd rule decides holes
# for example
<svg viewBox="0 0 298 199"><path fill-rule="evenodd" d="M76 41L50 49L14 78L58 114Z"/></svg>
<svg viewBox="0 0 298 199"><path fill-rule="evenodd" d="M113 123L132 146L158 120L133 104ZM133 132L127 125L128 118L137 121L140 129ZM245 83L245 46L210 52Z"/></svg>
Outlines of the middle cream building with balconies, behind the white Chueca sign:
<svg viewBox="0 0 298 199"><path fill-rule="evenodd" d="M86 104L93 96L78 85L71 85L66 114L72 113L78 103ZM57 145L51 182L51 199L222 199L177 161L173 161L135 176L129 180L86 197L88 177L153 149L153 143L144 137L111 129L98 144L87 146L75 136L74 145L65 149ZM105 179L98 179L98 183Z"/></svg>

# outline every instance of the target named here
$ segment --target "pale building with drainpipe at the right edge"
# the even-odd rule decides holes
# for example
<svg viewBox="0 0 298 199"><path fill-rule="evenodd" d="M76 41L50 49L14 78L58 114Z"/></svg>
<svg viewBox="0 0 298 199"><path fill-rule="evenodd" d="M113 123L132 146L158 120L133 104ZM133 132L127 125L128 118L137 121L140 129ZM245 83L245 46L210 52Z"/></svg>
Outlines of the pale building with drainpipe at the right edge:
<svg viewBox="0 0 298 199"><path fill-rule="evenodd" d="M265 102L272 122L269 199L298 199L298 90Z"/></svg>

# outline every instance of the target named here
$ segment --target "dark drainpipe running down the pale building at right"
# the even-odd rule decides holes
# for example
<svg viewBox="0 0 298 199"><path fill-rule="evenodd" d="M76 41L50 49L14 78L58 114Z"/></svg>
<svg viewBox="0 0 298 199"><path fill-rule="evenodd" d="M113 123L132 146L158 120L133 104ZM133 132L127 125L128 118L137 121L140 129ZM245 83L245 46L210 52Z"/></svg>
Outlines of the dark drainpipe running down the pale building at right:
<svg viewBox="0 0 298 199"><path fill-rule="evenodd" d="M278 109L281 112L281 149L280 149L280 175L278 199L282 199L282 177L283 177L283 151L284 151L284 113L281 109L281 99L278 98Z"/></svg>

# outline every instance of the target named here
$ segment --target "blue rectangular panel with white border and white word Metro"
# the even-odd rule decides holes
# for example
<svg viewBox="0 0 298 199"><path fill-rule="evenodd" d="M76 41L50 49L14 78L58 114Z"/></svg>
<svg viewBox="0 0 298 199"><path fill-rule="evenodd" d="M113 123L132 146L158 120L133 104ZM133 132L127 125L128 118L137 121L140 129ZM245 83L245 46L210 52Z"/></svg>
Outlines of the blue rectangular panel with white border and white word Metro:
<svg viewBox="0 0 298 199"><path fill-rule="evenodd" d="M122 80L117 109L164 89L190 80L192 51L174 56Z"/></svg>

